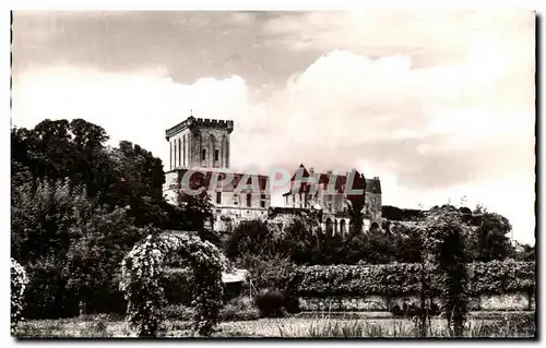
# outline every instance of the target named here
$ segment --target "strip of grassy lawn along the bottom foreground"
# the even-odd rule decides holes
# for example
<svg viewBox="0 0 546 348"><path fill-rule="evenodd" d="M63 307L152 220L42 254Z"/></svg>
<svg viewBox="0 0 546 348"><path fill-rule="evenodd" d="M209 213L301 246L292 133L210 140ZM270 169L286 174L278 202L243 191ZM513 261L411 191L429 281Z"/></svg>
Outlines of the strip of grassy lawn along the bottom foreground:
<svg viewBox="0 0 546 348"><path fill-rule="evenodd" d="M466 337L533 337L529 320L471 319ZM531 325L531 326L530 326ZM417 337L407 319L329 319L282 317L222 322L213 337ZM20 326L20 337L132 337L122 319L105 315L86 319L27 321ZM193 337L191 322L167 321L162 337ZM434 319L429 336L447 337L447 322Z"/></svg>

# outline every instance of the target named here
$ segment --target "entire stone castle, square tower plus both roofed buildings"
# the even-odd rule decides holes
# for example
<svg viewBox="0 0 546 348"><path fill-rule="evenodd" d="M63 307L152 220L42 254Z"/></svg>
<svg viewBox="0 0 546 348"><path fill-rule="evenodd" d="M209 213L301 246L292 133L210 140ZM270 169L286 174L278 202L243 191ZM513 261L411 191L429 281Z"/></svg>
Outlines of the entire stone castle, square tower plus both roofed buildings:
<svg viewBox="0 0 546 348"><path fill-rule="evenodd" d="M300 165L290 180L290 192L283 194L284 207L271 206L270 178L257 173L238 172L229 168L233 121L201 119L190 116L166 130L169 143L169 170L165 173L164 193L176 203L177 192L189 187L193 179L205 187L214 206L213 228L227 231L244 219L269 219L275 226L286 225L298 212L312 213L320 207L322 229L332 233L346 233L351 228L347 214L348 182L346 175L332 171L316 173ZM356 171L355 171L356 172ZM316 190L297 178L317 178ZM335 178L335 179L334 179ZM365 195L364 229L381 218L381 183L379 178L365 179L356 172ZM299 189L295 185L299 185Z"/></svg>

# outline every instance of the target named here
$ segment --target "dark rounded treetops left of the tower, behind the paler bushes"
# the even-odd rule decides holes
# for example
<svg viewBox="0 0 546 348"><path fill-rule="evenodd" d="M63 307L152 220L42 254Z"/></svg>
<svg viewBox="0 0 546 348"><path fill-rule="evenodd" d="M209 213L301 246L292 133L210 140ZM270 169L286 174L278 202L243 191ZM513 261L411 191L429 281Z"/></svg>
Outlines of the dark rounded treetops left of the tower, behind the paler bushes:
<svg viewBox="0 0 546 348"><path fill-rule="evenodd" d="M29 175L34 180L69 180L108 211L129 207L139 227L167 227L169 207L163 197L162 160L136 144L105 145L108 135L82 119L44 120L34 129L11 131L12 184Z"/></svg>

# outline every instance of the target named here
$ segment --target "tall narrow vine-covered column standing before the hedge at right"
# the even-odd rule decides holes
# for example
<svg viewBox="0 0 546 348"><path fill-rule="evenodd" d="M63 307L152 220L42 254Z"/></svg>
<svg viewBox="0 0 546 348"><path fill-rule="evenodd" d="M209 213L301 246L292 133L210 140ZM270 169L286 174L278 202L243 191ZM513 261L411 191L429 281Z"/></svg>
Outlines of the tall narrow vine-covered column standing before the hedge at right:
<svg viewBox="0 0 546 348"><path fill-rule="evenodd" d="M467 275L462 236L464 224L460 213L442 208L426 217L423 240L425 269L424 292L430 299L431 275L438 279L442 312L455 336L462 336L468 313Z"/></svg>

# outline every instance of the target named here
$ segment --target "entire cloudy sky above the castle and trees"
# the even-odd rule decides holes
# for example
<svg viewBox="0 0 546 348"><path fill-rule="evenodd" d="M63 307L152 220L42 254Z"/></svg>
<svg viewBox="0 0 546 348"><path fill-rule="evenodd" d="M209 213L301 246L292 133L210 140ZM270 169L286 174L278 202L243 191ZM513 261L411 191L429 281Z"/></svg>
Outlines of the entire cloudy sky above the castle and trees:
<svg viewBox="0 0 546 348"><path fill-rule="evenodd" d="M15 12L12 123L83 118L168 165L192 109L235 121L237 169L356 168L384 204L465 196L533 243L534 27L513 9Z"/></svg>

